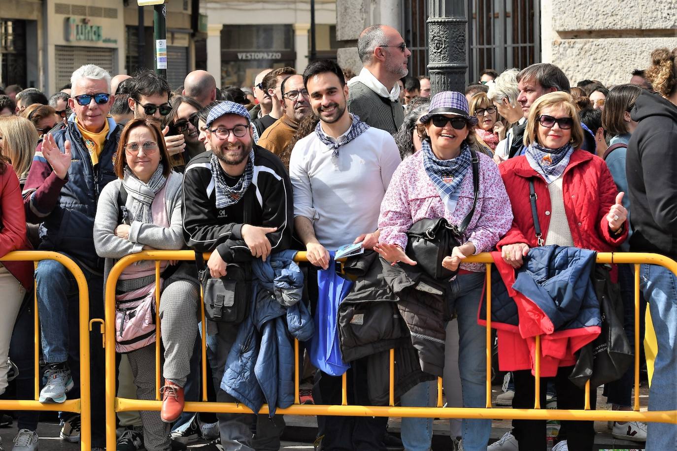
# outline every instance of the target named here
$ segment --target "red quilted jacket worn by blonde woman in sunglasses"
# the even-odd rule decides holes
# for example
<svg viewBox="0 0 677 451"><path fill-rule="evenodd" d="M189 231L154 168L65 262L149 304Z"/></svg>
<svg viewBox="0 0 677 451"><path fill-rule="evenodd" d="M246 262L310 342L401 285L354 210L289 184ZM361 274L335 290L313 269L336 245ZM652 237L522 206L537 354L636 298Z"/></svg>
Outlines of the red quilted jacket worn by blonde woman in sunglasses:
<svg viewBox="0 0 677 451"><path fill-rule="evenodd" d="M538 196L538 222L544 240L550 227L548 186L542 176L529 166L525 156L510 158L498 168L506 185L514 218L512 227L496 246L499 250L504 245L515 243L527 243L529 247L536 247L536 229L533 227L529 202L529 179L533 178ZM576 247L611 252L628 237L627 221L623 226L623 233L613 235L609 231L606 216L609 208L615 204L618 192L607 164L598 156L581 149L573 151L563 174L562 194L571 237Z"/></svg>

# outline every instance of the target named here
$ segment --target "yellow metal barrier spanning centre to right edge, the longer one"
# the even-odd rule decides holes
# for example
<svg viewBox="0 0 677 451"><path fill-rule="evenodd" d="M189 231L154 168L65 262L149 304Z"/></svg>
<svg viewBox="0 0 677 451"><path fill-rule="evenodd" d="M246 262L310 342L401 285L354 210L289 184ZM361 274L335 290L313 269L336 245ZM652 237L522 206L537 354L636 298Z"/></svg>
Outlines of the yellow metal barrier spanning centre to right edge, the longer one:
<svg viewBox="0 0 677 451"><path fill-rule="evenodd" d="M205 254L206 261L209 255ZM108 275L106 283L106 440L108 449L115 446L115 413L129 410L156 410L162 408L159 393L155 401L132 400L117 398L115 394L115 285L121 272L129 264L139 260L156 260L156 276L159 275L160 260L194 260L192 251L147 251L125 256L117 262ZM305 252L297 254L297 261L307 261ZM491 311L491 265L493 263L490 254L479 254L468 257L466 263L483 263L487 266L487 312ZM665 266L677 275L677 262L670 258L657 254L641 253L599 253L598 263L630 263L635 265L635 349L639 349L639 276L638 268L642 263L658 264ZM156 302L159 303L160 291L156 290ZM159 305L159 304L158 304ZM200 302L201 321L204 325L204 304ZM156 309L159 311L159 308ZM158 330L156 331L156 382L157 389L160 387L160 318L156 318ZM252 413L249 408L242 404L220 403L206 401L206 342L204 327L202 328L202 401L185 402L186 412L215 412L215 413ZM635 352L634 361L634 410L590 410L590 394L586 390L586 402L584 410L559 410L544 409L540 406L538 391L540 390L540 339L536 338L536 403L533 409L517 408L493 408L491 387L492 366L492 333L491 316L487 315L486 334L486 406L485 408L463 408L442 406L442 382L437 381L437 406L436 407L401 407L395 406L393 399L393 350L391 350L390 373L390 396L389 406L349 406L347 404L346 377L343 375L341 405L317 405L299 404L299 343L294 340L294 405L288 408L278 408L278 414L290 415L337 415L357 417L420 417L420 418L467 418L467 419L523 419L523 420L575 420L575 421L643 421L677 424L677 411L645 411L640 412L639 406L639 352ZM211 381L210 381L211 383ZM589 385L589 383L588 383ZM267 405L261 408L259 413L267 413Z"/></svg>

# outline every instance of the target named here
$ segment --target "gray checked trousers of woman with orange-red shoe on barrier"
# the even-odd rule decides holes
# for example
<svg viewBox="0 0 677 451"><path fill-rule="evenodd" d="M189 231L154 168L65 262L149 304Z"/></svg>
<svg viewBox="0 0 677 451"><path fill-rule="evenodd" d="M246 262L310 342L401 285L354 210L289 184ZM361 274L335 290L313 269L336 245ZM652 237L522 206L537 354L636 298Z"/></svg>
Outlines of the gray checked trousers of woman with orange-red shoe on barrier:
<svg viewBox="0 0 677 451"><path fill-rule="evenodd" d="M180 387L190 372L190 357L198 330L197 311L200 291L186 280L169 279L160 296L160 333L165 346L165 379ZM131 365L136 396L139 400L154 400L155 344L127 354ZM160 412L143 410L144 447L147 451L171 451L171 424L160 419Z"/></svg>

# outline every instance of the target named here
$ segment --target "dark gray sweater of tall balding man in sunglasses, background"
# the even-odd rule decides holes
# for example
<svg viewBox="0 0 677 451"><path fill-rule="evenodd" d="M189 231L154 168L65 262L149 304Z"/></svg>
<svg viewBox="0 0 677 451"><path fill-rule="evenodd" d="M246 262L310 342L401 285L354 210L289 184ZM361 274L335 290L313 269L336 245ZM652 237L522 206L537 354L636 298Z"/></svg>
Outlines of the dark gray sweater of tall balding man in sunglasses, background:
<svg viewBox="0 0 677 451"><path fill-rule="evenodd" d="M362 82L355 82L348 91L348 111L374 128L386 130L391 135L404 122L404 109L399 101L384 99Z"/></svg>

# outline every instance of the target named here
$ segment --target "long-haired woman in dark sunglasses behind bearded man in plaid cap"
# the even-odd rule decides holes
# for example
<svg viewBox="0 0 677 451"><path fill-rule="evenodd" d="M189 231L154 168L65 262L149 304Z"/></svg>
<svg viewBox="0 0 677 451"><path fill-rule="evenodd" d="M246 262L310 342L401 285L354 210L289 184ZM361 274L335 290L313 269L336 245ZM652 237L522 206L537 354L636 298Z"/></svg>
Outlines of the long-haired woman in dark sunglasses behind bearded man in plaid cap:
<svg viewBox="0 0 677 451"><path fill-rule="evenodd" d="M171 113L166 116L169 132L167 136L183 135L185 149L181 153L171 156L171 164L177 172L183 172L185 165L196 155L204 152L204 145L198 137L198 111L202 109L200 103L192 97L175 95L169 101Z"/></svg>

